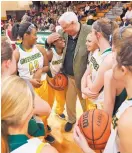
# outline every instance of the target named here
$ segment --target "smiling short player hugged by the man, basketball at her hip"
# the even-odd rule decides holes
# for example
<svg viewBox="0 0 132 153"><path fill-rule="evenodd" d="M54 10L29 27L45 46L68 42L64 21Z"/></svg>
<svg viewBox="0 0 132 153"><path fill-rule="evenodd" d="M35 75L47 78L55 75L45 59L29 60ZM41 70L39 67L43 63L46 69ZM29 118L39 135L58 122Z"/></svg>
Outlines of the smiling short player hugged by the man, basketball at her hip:
<svg viewBox="0 0 132 153"><path fill-rule="evenodd" d="M48 50L48 54L52 54L52 57L50 56L49 61L50 62L50 71L48 72L48 80L52 80L52 78L60 72L62 68L62 61L63 61L63 49L65 47L65 41L60 36L56 41L54 41L51 44L53 47ZM66 102L66 89L62 91L57 91L52 89L52 95L53 95L53 102L56 99L56 108L55 112L56 114L61 118L65 119L65 115L63 114L64 111L64 105ZM51 96L51 94L50 94ZM52 103L53 103L52 102Z"/></svg>

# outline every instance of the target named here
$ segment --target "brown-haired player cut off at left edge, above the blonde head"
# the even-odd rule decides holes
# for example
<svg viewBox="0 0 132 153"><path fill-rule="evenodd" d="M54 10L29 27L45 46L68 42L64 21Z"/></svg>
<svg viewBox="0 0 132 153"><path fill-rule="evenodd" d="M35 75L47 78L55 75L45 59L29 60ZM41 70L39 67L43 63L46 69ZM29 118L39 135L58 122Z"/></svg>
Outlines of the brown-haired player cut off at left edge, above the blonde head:
<svg viewBox="0 0 132 153"><path fill-rule="evenodd" d="M13 49L7 41L7 38L4 37L1 39L1 75L2 80L9 75L14 74L16 71L16 60L14 56ZM51 108L48 103L42 100L37 94L35 94L35 109L34 114L40 116L47 115L49 116Z"/></svg>

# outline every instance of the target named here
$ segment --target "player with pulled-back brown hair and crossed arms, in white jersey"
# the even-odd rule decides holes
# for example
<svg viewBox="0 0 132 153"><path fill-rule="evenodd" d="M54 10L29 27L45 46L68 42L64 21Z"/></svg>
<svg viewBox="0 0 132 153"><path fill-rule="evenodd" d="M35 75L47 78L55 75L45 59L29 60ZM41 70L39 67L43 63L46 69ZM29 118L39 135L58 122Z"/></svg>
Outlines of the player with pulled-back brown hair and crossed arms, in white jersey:
<svg viewBox="0 0 132 153"><path fill-rule="evenodd" d="M90 58L89 67L82 77L81 90L83 95L94 101L100 109L104 101L104 73L112 68L112 50L109 40L117 27L116 22L105 18L97 20L92 25L92 39L99 46L99 50L96 50Z"/></svg>

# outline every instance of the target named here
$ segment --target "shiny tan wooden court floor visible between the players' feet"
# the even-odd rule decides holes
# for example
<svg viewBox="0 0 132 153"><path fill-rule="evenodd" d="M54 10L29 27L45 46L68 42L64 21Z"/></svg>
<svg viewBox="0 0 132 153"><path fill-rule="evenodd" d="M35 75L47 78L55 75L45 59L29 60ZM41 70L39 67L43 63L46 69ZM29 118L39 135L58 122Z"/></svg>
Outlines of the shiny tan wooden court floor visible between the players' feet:
<svg viewBox="0 0 132 153"><path fill-rule="evenodd" d="M80 117L82 114L82 109L79 100L77 100L77 118ZM65 115L66 111L65 111ZM73 140L73 131L71 132L65 132L64 131L64 125L66 123L66 120L60 119L58 116L54 113L54 107L53 112L50 115L48 119L49 125L52 127L51 134L55 137L56 141L52 144L59 153L83 153L83 151L76 145L76 143ZM96 151L97 153L100 153Z"/></svg>

